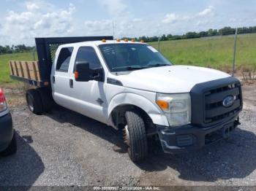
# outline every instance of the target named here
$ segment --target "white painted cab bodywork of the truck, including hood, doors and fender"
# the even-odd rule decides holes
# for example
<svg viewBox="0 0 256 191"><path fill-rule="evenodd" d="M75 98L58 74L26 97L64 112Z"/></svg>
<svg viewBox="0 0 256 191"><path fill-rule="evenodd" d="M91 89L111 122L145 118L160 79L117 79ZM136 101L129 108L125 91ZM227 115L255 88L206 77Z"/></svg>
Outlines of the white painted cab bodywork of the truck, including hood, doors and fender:
<svg viewBox="0 0 256 191"><path fill-rule="evenodd" d="M113 127L111 112L116 106L124 104L138 106L151 117L154 124L168 126L167 117L156 104L157 93L189 93L191 88L199 82L230 77L222 71L195 66L162 66L137 71L110 72L98 47L99 44L108 43L118 42L80 42L59 46L52 67L51 85L53 99L57 104ZM75 57L79 47L88 46L93 47L97 52L105 71L105 82L75 81ZM74 47L67 73L56 71L56 61L62 47ZM53 77L55 77L55 83L53 83ZM123 86L108 84L108 77L117 79ZM69 87L70 79L72 79L73 88ZM98 98L103 101L102 104L97 102Z"/></svg>

